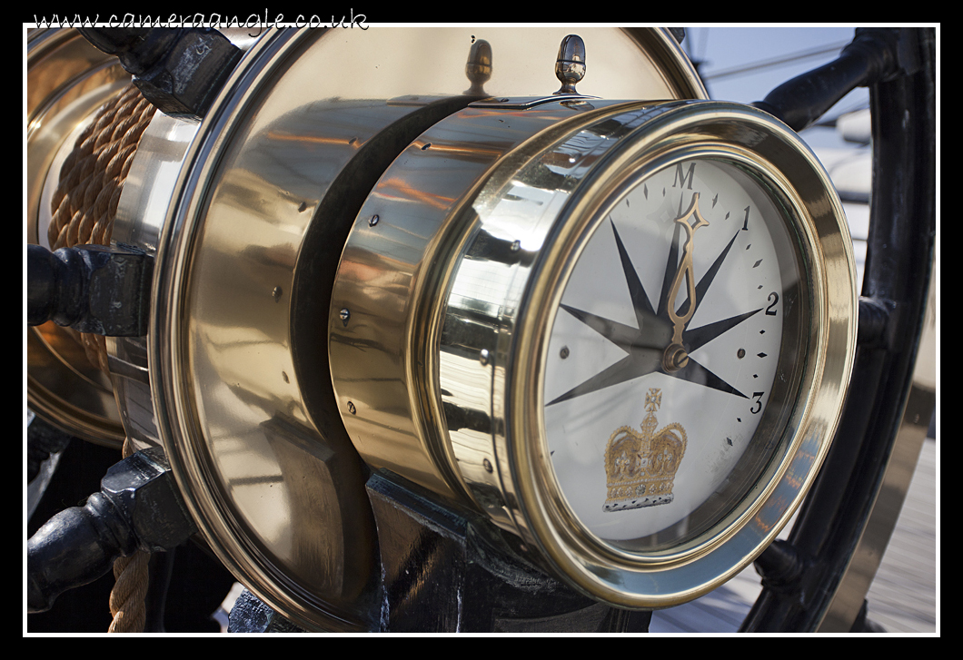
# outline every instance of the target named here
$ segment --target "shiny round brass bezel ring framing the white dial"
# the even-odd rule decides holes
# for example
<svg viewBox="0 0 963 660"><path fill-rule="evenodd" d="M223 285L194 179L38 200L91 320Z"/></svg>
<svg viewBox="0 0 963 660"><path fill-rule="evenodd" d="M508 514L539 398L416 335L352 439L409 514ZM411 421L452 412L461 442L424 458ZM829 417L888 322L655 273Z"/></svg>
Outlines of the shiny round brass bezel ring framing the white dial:
<svg viewBox="0 0 963 660"><path fill-rule="evenodd" d="M759 486L698 540L645 556L590 534L565 505L548 458L542 374L551 318L579 250L605 216L602 205L629 179L638 181L683 157L738 163L789 204L808 267L810 354L790 433ZM857 315L851 241L839 198L808 147L767 114L716 102L688 104L655 117L607 155L560 214L546 244L518 314L516 359L508 366L506 386L506 448L527 524L519 531L589 596L641 608L701 596L741 571L790 520L838 423Z"/></svg>

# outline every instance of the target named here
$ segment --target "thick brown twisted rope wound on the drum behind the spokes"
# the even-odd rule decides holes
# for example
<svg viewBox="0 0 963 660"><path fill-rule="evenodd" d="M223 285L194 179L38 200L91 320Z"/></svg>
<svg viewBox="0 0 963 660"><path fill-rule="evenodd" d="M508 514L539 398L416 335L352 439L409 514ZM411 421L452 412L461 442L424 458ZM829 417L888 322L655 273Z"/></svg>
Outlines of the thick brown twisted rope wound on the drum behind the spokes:
<svg viewBox="0 0 963 660"><path fill-rule="evenodd" d="M154 106L131 84L100 109L74 142L51 202L53 216L47 230L51 249L110 243L120 190L153 116ZM74 335L91 364L106 373L105 339L85 333ZM128 438L124 440L123 457L132 453ZM108 632L143 632L149 559L150 553L137 550L114 562L116 582L110 598L114 621Z"/></svg>

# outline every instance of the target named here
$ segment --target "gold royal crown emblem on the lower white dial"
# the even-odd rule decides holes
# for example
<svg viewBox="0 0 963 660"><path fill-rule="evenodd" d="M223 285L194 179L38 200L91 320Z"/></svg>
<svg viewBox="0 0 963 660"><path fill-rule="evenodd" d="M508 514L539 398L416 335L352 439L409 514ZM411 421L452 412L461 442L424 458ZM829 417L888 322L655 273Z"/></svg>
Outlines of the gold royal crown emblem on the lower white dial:
<svg viewBox="0 0 963 660"><path fill-rule="evenodd" d="M686 453L686 429L672 422L656 430L656 411L662 405L662 390L645 394L641 433L622 426L612 433L605 450L605 471L609 497L603 510L625 511L672 501L672 482Z"/></svg>

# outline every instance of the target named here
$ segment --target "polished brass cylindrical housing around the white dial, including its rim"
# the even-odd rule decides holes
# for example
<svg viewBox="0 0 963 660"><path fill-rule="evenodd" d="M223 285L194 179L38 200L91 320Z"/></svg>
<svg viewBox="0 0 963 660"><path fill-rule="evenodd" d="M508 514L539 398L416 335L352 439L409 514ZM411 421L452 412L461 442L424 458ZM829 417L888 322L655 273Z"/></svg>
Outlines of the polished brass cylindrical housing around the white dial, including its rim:
<svg viewBox="0 0 963 660"><path fill-rule="evenodd" d="M513 145L489 150L484 175L455 192L455 209L431 234L418 276L403 287L397 278L368 276L392 256L392 222L403 227L399 213L413 213L391 194L398 182L426 190L422 184L456 168L460 154L486 154L491 136L509 130L517 132ZM768 225L779 234L771 241L779 268L794 281L794 304L780 307L776 385L771 393L766 388L765 400L743 396L750 399L747 414L762 416L726 486L666 533L613 538L579 513L579 496L563 483L553 456L558 447L546 430L546 374L560 351L553 323L586 245L612 209L640 183L683 162L711 163L767 200L774 216ZM742 570L801 502L846 392L854 281L845 216L827 175L768 114L708 101L470 106L416 140L362 208L332 294L332 382L367 462L469 501L589 596L625 607L670 606ZM687 286L681 290L676 304ZM385 333L402 345L382 361L377 346ZM404 388L406 411L384 395L387 383ZM606 394L638 396L616 387ZM640 419L641 400L637 407ZM624 423L613 418L612 429ZM414 430L400 434L400 427ZM594 439L596 455L604 456L609 440ZM585 478L598 474L586 470Z"/></svg>

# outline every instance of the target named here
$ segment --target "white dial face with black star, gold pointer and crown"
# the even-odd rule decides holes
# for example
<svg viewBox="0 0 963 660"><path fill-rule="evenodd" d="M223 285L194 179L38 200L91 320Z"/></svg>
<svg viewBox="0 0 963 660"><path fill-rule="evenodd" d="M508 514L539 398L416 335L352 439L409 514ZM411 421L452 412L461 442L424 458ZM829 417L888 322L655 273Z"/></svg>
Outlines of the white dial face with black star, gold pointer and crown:
<svg viewBox="0 0 963 660"><path fill-rule="evenodd" d="M546 442L574 517L617 547L705 533L782 446L808 303L785 206L762 181L721 158L630 180L561 293Z"/></svg>

